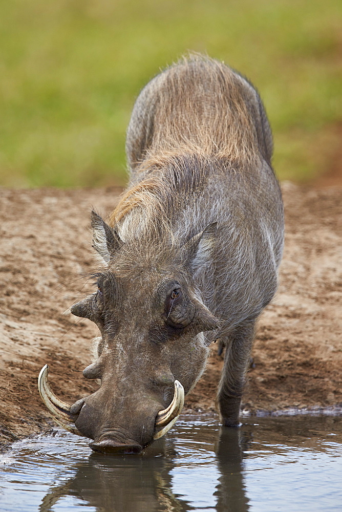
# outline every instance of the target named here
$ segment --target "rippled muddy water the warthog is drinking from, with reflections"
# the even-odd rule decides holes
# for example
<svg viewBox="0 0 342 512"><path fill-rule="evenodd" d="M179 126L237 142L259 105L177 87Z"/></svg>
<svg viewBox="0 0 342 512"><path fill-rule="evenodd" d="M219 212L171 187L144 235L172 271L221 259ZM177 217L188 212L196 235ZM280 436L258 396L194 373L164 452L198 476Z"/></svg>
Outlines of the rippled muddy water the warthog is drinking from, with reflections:
<svg viewBox="0 0 342 512"><path fill-rule="evenodd" d="M58 431L1 456L1 512L342 510L340 417L179 420L142 455L92 453Z"/></svg>

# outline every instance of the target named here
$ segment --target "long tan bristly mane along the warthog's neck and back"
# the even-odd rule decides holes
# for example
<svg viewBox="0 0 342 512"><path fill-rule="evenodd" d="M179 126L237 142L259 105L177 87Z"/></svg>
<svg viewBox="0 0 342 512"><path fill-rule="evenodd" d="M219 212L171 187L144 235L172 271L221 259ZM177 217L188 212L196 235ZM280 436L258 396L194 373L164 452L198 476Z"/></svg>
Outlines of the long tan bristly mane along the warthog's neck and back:
<svg viewBox="0 0 342 512"><path fill-rule="evenodd" d="M179 210L203 194L211 176L247 172L261 156L246 105L255 91L240 75L192 55L155 80L153 133L131 159L135 180L110 218L112 225L130 220L132 234L149 239L172 237Z"/></svg>

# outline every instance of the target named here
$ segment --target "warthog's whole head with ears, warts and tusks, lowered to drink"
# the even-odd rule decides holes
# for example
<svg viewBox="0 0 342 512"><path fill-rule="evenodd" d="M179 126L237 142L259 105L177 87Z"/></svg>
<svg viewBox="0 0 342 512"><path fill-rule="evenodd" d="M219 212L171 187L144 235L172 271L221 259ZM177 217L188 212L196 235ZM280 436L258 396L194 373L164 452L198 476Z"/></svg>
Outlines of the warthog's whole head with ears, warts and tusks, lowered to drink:
<svg viewBox="0 0 342 512"><path fill-rule="evenodd" d="M209 342L203 332L219 326L194 280L196 259L216 226L162 250L124 243L95 212L92 227L106 266L95 274L95 293L71 312L100 330L97 359L83 375L101 386L70 407L52 393L44 367L40 394L61 426L94 440L93 450L139 453L176 421L184 393L204 369Z"/></svg>

